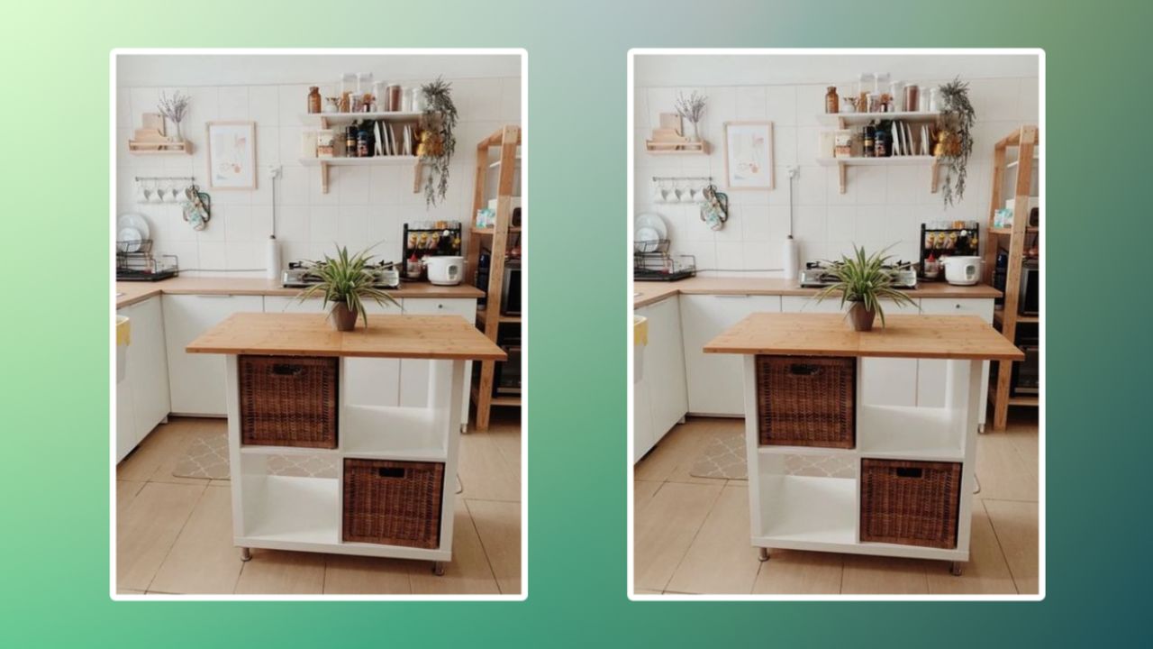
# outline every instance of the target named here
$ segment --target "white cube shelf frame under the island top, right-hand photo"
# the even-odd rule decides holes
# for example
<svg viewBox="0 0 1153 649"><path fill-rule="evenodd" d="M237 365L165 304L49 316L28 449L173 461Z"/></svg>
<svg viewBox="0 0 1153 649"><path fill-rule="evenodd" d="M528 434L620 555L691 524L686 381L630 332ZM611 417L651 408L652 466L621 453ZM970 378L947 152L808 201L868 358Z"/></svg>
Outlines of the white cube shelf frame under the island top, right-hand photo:
<svg viewBox="0 0 1153 649"><path fill-rule="evenodd" d="M761 549L845 552L954 561L969 560L973 465L977 450L981 360L945 360L942 408L873 405L864 401L867 359L857 358L854 448L761 446L758 430L756 357L745 356L745 437L749 458L748 495L752 544ZM798 475L804 464L841 468L828 475ZM871 543L860 534L862 458L959 462L962 464L957 544L952 549ZM812 473L812 471L811 471Z"/></svg>

